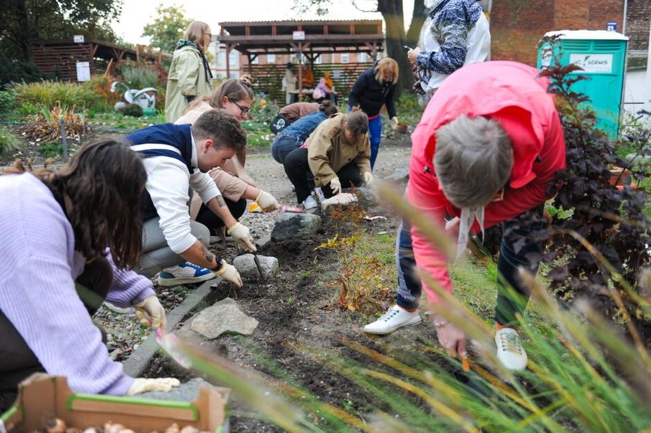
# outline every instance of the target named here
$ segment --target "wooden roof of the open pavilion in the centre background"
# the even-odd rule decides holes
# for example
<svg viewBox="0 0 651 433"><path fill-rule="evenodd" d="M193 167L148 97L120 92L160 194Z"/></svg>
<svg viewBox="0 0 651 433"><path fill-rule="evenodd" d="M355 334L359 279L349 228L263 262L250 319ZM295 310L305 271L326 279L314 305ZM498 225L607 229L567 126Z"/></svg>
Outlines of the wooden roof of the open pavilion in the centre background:
<svg viewBox="0 0 651 433"><path fill-rule="evenodd" d="M242 53L288 53L298 50L316 53L377 52L384 35L381 19L349 21L230 21L220 23L217 37L222 44ZM294 31L305 39L294 39Z"/></svg>

